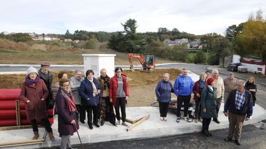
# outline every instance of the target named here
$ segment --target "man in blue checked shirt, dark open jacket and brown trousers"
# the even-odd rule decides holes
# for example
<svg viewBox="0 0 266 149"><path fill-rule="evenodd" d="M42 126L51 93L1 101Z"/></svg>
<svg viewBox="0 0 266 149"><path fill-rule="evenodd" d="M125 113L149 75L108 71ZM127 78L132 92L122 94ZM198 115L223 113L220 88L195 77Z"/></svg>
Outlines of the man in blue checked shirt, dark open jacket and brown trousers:
<svg viewBox="0 0 266 149"><path fill-rule="evenodd" d="M227 98L224 107L224 115L228 116L229 131L225 141L232 140L235 137L235 143L241 145L239 141L244 120L251 119L253 113L252 95L245 89L245 81L238 80L236 89L232 90Z"/></svg>

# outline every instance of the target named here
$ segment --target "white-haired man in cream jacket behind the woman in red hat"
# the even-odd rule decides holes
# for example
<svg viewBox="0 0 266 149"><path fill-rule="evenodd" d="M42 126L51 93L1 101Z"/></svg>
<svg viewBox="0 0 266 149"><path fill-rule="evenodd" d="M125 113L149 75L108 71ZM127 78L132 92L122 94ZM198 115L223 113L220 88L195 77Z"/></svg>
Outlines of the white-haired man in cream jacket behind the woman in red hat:
<svg viewBox="0 0 266 149"><path fill-rule="evenodd" d="M218 113L220 110L220 106L222 103L222 98L224 96L224 84L223 84L223 79L221 77L218 76L219 72L217 69L212 70L212 78L215 80L215 85L214 87L217 88L217 90L215 91L215 101L216 101L216 117L213 117L213 121L215 121L216 123L220 123L220 121L218 120Z"/></svg>

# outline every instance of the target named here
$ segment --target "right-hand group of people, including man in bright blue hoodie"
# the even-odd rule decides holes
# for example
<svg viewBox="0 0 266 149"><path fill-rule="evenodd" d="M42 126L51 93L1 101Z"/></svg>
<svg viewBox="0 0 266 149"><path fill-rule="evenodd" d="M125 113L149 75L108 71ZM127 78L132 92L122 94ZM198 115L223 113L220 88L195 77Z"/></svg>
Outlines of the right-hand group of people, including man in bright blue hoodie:
<svg viewBox="0 0 266 149"><path fill-rule="evenodd" d="M210 74L212 75L210 76ZM235 137L235 143L241 145L240 135L244 120L251 119L253 106L255 106L257 86L255 78L250 76L246 81L234 78L234 73L229 72L228 77L219 77L218 70L212 72L207 70L200 74L200 79L193 85L190 76L187 76L187 69L183 68L180 76L175 79L174 87L169 81L169 74L163 75L163 80L158 82L155 94L159 102L161 120L166 121L167 109L171 101L171 92L177 95L177 120L180 122L180 110L183 104L184 120L191 123L188 117L191 93L196 103L195 123L202 123L202 133L211 136L209 124L211 119L220 123L218 113L224 98L224 115L229 116L229 133L225 141Z"/></svg>

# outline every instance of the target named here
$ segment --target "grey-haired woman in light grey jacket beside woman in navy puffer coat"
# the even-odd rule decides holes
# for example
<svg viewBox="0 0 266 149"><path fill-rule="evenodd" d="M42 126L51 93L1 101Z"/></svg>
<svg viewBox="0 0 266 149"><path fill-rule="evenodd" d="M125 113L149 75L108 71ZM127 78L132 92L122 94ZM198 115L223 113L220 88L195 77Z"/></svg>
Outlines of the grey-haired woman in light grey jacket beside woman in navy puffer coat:
<svg viewBox="0 0 266 149"><path fill-rule="evenodd" d="M79 87L81 82L84 80L83 77L81 77L82 73L81 70L77 69L75 70L75 75L70 78L69 84L70 88L75 100L75 105L77 108L78 113L76 113L77 121L80 121L81 123L85 123L86 119L86 110L84 106L81 104L81 97L79 96ZM79 119L80 118L80 119Z"/></svg>

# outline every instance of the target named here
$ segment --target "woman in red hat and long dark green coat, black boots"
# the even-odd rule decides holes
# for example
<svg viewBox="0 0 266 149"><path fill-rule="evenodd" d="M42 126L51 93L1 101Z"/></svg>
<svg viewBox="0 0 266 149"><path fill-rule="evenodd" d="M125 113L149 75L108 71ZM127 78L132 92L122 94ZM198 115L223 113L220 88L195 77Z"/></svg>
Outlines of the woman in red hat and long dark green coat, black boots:
<svg viewBox="0 0 266 149"><path fill-rule="evenodd" d="M209 125L211 123L212 117L216 116L216 101L215 101L215 91L216 87L215 80L213 78L207 79L207 86L201 92L201 117L202 120L202 133L206 136L212 135L209 132Z"/></svg>

